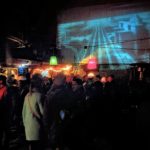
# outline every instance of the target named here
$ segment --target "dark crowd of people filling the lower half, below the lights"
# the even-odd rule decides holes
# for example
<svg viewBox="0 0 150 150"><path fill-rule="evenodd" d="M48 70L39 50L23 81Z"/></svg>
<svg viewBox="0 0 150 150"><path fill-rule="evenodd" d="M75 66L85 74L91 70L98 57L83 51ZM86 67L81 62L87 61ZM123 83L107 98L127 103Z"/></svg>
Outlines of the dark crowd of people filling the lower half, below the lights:
<svg viewBox="0 0 150 150"><path fill-rule="evenodd" d="M149 111L149 87L148 81L114 75L67 80L63 73L54 79L35 74L20 81L0 75L0 149L10 149L10 128L16 126L29 150L111 150L130 131L129 139L137 131L149 133L149 117L145 123L142 116L148 114L144 107Z"/></svg>

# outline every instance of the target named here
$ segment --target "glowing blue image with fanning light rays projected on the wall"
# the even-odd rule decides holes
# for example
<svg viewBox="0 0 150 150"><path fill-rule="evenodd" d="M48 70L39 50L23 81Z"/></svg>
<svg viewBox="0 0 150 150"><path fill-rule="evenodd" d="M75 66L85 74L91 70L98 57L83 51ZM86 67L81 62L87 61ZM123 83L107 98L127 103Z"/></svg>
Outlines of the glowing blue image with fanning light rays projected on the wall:
<svg viewBox="0 0 150 150"><path fill-rule="evenodd" d="M148 62L149 37L150 12L58 25L59 47L71 52L75 63L90 55L96 56L99 64Z"/></svg>

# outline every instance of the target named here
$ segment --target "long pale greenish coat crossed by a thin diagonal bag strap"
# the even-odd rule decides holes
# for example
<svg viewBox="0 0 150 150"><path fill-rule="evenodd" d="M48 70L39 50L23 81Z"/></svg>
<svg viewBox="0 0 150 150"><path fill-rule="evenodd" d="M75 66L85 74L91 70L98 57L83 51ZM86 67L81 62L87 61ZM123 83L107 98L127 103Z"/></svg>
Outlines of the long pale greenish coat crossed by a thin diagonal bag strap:
<svg viewBox="0 0 150 150"><path fill-rule="evenodd" d="M26 140L40 140L42 135L43 106L39 92L28 93L25 96L22 117Z"/></svg>

